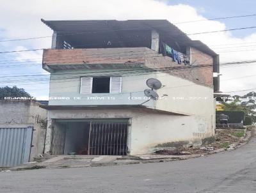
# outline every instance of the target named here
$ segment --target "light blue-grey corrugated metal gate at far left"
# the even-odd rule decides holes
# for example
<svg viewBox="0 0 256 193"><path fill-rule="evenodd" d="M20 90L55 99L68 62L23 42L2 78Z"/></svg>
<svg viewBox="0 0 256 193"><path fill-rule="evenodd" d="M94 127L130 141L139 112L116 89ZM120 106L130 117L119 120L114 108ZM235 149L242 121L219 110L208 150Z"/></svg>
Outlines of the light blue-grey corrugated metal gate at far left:
<svg viewBox="0 0 256 193"><path fill-rule="evenodd" d="M0 128L0 167L29 161L33 127Z"/></svg>

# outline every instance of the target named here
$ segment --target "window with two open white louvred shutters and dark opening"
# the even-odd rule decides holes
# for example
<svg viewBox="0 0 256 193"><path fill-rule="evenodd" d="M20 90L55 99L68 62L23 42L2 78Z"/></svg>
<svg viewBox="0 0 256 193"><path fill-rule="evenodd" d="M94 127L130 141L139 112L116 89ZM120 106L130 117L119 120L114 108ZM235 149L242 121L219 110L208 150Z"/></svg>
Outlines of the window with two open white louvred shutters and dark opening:
<svg viewBox="0 0 256 193"><path fill-rule="evenodd" d="M82 94L121 93L122 77L81 77Z"/></svg>

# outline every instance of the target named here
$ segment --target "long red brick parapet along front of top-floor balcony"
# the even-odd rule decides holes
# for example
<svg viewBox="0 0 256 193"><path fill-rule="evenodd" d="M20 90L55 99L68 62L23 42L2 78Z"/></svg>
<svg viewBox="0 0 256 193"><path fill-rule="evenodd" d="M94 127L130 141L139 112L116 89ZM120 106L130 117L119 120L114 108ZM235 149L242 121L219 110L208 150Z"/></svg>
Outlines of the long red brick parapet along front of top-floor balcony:
<svg viewBox="0 0 256 193"><path fill-rule="evenodd" d="M43 64L125 63L143 62L157 52L146 47L114 49L45 49Z"/></svg>

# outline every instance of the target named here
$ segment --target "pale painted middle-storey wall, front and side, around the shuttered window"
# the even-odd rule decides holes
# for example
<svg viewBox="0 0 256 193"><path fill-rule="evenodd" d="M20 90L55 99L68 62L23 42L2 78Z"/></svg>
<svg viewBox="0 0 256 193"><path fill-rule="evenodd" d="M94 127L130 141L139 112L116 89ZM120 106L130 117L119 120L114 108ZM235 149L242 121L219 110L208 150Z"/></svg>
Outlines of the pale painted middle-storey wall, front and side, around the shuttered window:
<svg viewBox="0 0 256 193"><path fill-rule="evenodd" d="M88 72L88 70L84 71ZM71 73L63 71L60 73ZM78 71L72 71L73 75L51 75L50 96L70 97L68 99L50 100L49 105L135 105L141 104L147 100L143 91L148 89L146 81L149 78L156 78L162 82L163 88L157 90L159 96L164 96L157 102L150 101L143 105L156 107L164 111L179 112L184 114L202 114L211 116L214 113L213 89L209 86L195 84L195 82L182 79L168 73L148 73L144 75L123 75L122 93L111 94L80 94L80 78ZM83 73L83 70L79 71ZM100 72L99 72L100 74ZM112 72L115 74L115 72ZM109 74L111 75L111 73ZM74 77L75 76L75 77ZM65 78L60 81L58 78ZM54 80L57 79L57 80ZM105 98L95 99L95 96L104 96ZM80 99L74 100L77 97ZM88 97L92 97L88 99ZM198 111L199 110L199 111ZM209 114L209 112L211 113Z"/></svg>

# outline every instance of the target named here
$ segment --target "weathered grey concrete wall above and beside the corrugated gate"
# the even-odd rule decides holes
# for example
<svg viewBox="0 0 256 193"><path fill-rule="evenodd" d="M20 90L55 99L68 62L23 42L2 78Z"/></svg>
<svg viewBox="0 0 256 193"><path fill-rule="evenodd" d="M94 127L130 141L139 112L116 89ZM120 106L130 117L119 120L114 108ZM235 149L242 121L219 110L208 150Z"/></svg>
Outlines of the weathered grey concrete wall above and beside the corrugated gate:
<svg viewBox="0 0 256 193"><path fill-rule="evenodd" d="M47 121L45 109L40 108L39 104L33 101L0 100L0 114L1 128L33 127L30 160L43 153L46 130L40 120L45 120L45 123Z"/></svg>

